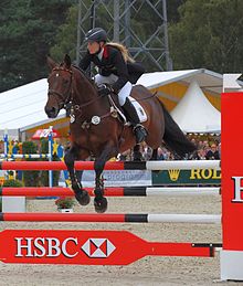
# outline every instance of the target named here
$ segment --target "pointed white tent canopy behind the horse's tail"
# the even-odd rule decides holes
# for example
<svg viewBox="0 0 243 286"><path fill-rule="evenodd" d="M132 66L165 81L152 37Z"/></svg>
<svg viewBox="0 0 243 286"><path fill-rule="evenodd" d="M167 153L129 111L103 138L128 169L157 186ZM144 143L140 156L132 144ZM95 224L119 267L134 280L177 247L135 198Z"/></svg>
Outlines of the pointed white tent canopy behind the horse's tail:
<svg viewBox="0 0 243 286"><path fill-rule="evenodd" d="M193 81L171 115L184 133L220 133L221 114Z"/></svg>

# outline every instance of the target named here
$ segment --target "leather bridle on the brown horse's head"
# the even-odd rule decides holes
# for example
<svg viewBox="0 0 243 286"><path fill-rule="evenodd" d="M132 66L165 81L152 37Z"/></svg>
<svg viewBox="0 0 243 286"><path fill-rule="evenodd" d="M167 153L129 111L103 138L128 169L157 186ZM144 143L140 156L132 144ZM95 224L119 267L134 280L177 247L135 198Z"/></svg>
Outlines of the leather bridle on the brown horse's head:
<svg viewBox="0 0 243 286"><path fill-rule="evenodd" d="M67 72L70 73L70 84L68 84L68 87L66 88L66 92L61 94L59 92L56 92L55 89L50 89L47 91L47 95L52 95L54 97L54 99L56 100L60 109L61 108L65 108L66 105L72 102L72 95L73 95L73 88L72 88L72 83L73 83L73 71L72 70L68 70L68 68L65 68L63 66L59 66L59 67L54 67L52 70L52 72ZM56 75L57 76L57 75ZM61 99L61 102L59 100Z"/></svg>

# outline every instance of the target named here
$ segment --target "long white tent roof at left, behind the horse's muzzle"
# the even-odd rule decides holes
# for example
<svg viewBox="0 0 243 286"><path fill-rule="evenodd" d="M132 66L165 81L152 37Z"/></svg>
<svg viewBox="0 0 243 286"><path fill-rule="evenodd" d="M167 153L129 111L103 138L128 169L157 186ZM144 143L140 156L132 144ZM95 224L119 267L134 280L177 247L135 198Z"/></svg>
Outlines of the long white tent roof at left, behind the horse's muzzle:
<svg viewBox="0 0 243 286"><path fill-rule="evenodd" d="M0 94L0 138L4 129L11 138L18 138L22 133L36 125L53 121L44 113L47 99L46 78L25 84L23 86ZM64 117L61 110L59 117Z"/></svg>

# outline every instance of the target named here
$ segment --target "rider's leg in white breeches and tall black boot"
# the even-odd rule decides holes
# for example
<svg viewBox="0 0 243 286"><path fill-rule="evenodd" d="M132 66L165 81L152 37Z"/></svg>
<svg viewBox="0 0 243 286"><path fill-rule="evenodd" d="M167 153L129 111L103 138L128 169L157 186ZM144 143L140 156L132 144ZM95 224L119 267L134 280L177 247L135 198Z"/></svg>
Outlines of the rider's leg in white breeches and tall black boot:
<svg viewBox="0 0 243 286"><path fill-rule="evenodd" d="M133 85L131 83L126 83L126 85L119 91L118 98L119 104L123 107L127 119L134 127L134 133L136 136L136 142L139 144L145 140L147 136L147 130L140 124L140 119L138 117L137 110L134 105L130 103L129 98L127 97L131 92Z"/></svg>

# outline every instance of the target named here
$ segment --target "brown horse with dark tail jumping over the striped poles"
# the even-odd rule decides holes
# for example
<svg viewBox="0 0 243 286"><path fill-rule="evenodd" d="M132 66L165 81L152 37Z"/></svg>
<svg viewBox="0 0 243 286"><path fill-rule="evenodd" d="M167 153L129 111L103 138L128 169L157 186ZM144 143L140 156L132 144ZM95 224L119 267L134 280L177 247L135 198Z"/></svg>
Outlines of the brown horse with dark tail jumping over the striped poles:
<svg viewBox="0 0 243 286"><path fill-rule="evenodd" d="M77 201L85 205L89 202L88 193L82 188L74 170L75 160L85 160L91 155L95 157L95 199L96 212L105 212L107 200L104 198L104 187L101 179L107 160L116 157L136 145L131 127L113 116L107 96L99 96L96 85L77 67L71 65L71 59L65 55L57 65L47 57L51 68L49 76L49 94L45 113L49 118L55 118L61 108L71 104L71 140L72 145L64 160L70 172L72 189ZM147 88L137 85L131 96L144 107L148 130L146 144L152 149L163 141L179 156L184 156L196 149L179 126L173 121L160 100ZM116 95L114 95L116 97Z"/></svg>

